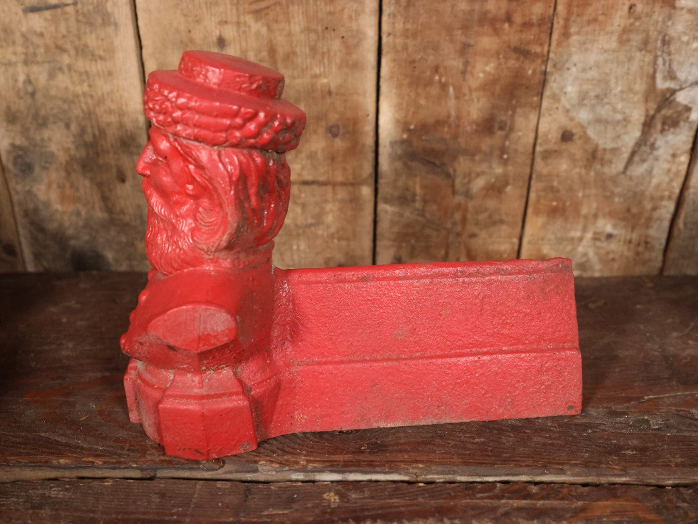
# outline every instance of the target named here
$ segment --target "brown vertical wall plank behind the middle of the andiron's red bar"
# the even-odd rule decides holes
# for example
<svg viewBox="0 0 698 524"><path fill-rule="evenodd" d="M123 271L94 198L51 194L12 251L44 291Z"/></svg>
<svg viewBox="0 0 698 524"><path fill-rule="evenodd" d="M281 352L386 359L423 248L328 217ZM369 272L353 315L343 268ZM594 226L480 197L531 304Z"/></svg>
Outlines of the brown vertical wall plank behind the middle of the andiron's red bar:
<svg viewBox="0 0 698 524"><path fill-rule="evenodd" d="M514 258L552 0L386 0L377 261Z"/></svg>

